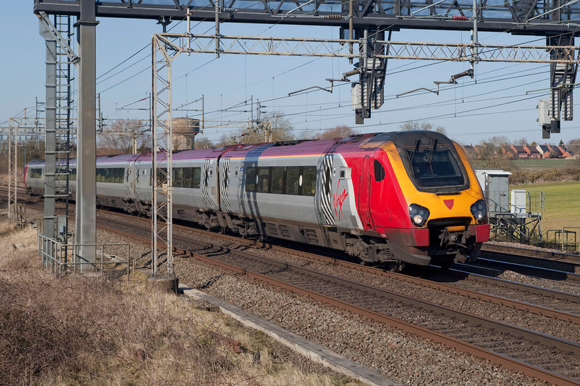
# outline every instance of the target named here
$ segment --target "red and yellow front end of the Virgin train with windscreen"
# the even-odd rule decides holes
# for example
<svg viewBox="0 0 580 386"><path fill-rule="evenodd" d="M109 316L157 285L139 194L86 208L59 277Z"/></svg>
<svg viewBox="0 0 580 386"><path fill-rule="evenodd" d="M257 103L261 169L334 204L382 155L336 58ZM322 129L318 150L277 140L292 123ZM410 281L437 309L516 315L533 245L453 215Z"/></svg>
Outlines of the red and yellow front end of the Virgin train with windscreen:
<svg viewBox="0 0 580 386"><path fill-rule="evenodd" d="M394 270L475 260L490 226L459 145L436 132L398 132L360 139L340 154L350 181L338 179L332 202L344 218L344 197L355 196L358 226L343 232L349 254Z"/></svg>

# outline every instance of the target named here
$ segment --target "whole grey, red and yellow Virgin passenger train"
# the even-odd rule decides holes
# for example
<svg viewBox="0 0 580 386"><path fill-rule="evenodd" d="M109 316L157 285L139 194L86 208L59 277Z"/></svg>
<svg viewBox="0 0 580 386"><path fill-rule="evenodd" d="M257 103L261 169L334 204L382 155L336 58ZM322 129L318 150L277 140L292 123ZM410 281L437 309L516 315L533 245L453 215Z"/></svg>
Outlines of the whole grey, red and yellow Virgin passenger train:
<svg viewBox="0 0 580 386"><path fill-rule="evenodd" d="M329 247L387 270L472 262L490 236L465 152L438 132L182 150L172 165L173 219ZM68 168L74 200L74 159ZM152 174L151 152L97 157L97 205L151 216ZM43 194L44 179L44 161L26 165L30 194Z"/></svg>

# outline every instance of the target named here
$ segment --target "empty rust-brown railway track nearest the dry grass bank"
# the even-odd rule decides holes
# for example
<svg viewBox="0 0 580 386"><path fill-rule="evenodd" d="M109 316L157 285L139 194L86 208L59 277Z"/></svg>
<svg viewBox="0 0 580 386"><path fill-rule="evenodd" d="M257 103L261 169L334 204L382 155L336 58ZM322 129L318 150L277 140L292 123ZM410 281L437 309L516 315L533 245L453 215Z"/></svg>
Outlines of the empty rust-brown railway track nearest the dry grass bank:
<svg viewBox="0 0 580 386"><path fill-rule="evenodd" d="M122 232L128 230L123 221L106 221L109 225L116 223L115 227L124 227ZM134 232L139 227L132 224L130 228L132 237L135 237ZM139 232L143 232L139 236L143 241L149 240L150 227L141 227ZM193 242L191 237L175 233L174 243L180 246L182 252L204 252L205 256L189 252L196 258L307 294L526 374L560 385L580 384L578 343L305 267L209 243Z"/></svg>

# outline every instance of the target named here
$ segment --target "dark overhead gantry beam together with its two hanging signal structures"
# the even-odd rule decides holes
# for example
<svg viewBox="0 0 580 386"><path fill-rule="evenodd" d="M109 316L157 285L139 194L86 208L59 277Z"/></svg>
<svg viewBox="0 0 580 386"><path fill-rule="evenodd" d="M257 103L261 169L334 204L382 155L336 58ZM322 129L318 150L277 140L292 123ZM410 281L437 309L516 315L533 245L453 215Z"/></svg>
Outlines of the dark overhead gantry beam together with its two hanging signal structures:
<svg viewBox="0 0 580 386"><path fill-rule="evenodd" d="M91 1L91 0L89 0ZM87 0L35 0L35 12L80 14ZM383 51L387 57L405 59L412 55L390 52L393 45L375 44L385 40L385 32L404 28L428 30L473 30L474 48L479 44L477 31L532 34L546 37L546 45L574 45L580 26L579 0L115 0L94 1L95 17L215 21L215 37L220 38L220 23L276 23L310 26L338 26L340 37L368 39L367 49ZM220 45L215 42L216 47ZM404 48L403 48L404 49ZM294 54L288 50L287 54ZM494 52L499 52L494 50ZM216 48L216 55L220 52ZM240 52L242 53L242 52ZM272 54L266 52L264 54ZM390 54L390 55L389 55ZM479 61L476 52L471 63ZM566 56L565 50L551 52L553 58ZM435 57L434 59L438 59ZM527 58L525 61L533 61ZM442 60L448 60L447 58ZM513 59L512 59L513 60ZM501 54L496 61L505 61ZM380 108L385 84L386 59L366 59L358 74L356 122L363 123L371 108ZM560 119L572 120L572 91L577 63L550 64L550 119L543 125L544 137L559 132ZM467 74L473 75L473 72ZM464 75L462 75L464 76ZM454 83L452 79L451 83Z"/></svg>

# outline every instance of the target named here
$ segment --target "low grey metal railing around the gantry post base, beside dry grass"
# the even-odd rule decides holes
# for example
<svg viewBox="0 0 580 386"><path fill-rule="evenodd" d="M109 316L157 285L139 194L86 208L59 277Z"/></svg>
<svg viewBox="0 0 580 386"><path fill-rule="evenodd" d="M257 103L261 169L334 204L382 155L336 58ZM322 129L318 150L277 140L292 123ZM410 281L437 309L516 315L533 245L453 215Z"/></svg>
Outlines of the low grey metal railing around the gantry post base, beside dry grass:
<svg viewBox="0 0 580 386"><path fill-rule="evenodd" d="M81 247L95 247L97 261L94 263L83 261L79 255ZM116 256L116 254L108 254L106 250L110 248L110 252L115 252L126 248L126 258L117 258L114 260L105 261L105 258ZM135 272L135 258L131 259L131 246L129 243L95 243L95 244L66 244L61 243L54 238L48 238L43 234L38 235L38 252L41 258L43 267L52 270L56 276L61 276L70 272L82 272L85 270L101 270L111 265L127 265L127 280L131 272L131 264L133 264L133 272Z"/></svg>

